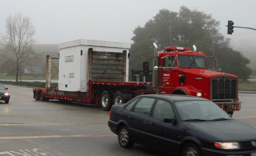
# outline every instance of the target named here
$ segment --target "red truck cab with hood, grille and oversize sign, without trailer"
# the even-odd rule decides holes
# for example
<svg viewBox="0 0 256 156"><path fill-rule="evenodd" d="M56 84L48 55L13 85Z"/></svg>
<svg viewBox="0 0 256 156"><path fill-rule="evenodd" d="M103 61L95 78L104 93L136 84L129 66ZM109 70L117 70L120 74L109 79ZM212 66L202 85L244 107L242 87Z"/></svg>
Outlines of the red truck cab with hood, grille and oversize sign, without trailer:
<svg viewBox="0 0 256 156"><path fill-rule="evenodd" d="M167 47L157 52L157 90L160 93L210 99L228 114L240 110L238 78L206 68L206 55L199 50Z"/></svg>

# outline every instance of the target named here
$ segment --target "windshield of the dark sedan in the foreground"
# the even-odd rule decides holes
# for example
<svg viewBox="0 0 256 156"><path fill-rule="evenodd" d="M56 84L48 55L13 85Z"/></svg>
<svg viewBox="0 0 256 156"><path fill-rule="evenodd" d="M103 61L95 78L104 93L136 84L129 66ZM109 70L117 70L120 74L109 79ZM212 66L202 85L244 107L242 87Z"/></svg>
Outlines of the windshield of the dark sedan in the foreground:
<svg viewBox="0 0 256 156"><path fill-rule="evenodd" d="M229 115L211 101L191 100L177 101L175 106L181 120L228 120Z"/></svg>

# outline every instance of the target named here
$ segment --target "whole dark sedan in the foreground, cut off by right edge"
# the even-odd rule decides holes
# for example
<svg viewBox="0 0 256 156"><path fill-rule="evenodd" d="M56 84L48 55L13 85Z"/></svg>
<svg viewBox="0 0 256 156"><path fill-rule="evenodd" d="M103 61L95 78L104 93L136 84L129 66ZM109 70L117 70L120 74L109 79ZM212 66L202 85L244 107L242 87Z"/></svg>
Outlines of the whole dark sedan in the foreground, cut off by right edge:
<svg viewBox="0 0 256 156"><path fill-rule="evenodd" d="M195 96L137 96L112 106L109 127L124 148L139 143L181 156L256 156L254 127Z"/></svg>

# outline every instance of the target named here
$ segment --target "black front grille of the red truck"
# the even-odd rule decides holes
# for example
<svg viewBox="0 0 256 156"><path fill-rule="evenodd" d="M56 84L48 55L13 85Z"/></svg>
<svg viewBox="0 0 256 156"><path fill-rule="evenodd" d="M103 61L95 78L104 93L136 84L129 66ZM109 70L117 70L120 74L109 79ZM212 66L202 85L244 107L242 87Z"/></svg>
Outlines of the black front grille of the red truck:
<svg viewBox="0 0 256 156"><path fill-rule="evenodd" d="M212 101L237 100L237 78L212 77L211 78L211 100Z"/></svg>

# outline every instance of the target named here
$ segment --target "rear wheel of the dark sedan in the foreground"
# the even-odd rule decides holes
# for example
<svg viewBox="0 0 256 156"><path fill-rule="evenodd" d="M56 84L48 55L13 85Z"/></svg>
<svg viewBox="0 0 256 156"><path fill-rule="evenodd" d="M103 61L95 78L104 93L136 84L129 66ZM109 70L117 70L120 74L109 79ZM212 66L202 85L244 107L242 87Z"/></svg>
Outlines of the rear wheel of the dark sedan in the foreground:
<svg viewBox="0 0 256 156"><path fill-rule="evenodd" d="M131 136L128 133L126 126L121 126L118 131L118 142L123 148L131 148L134 142L131 141Z"/></svg>

